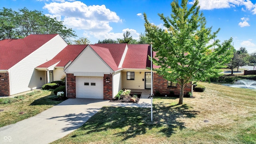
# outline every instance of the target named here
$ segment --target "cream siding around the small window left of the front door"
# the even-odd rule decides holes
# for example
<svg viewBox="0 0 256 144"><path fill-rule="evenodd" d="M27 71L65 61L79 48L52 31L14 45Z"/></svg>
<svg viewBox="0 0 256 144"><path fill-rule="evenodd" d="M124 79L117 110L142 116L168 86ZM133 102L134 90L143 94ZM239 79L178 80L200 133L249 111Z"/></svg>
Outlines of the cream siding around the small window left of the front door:
<svg viewBox="0 0 256 144"><path fill-rule="evenodd" d="M134 72L134 70L128 72ZM145 72L134 72L134 80L127 80L127 72L124 71L122 74L125 89L145 89ZM144 81L142 81L143 78Z"/></svg>

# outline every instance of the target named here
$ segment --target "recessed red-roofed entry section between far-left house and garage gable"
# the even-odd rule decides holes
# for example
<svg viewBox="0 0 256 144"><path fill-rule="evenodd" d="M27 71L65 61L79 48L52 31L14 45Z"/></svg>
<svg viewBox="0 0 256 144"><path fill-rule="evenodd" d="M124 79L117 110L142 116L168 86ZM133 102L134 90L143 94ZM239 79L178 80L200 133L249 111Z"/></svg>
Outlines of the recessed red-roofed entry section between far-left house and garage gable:
<svg viewBox="0 0 256 144"><path fill-rule="evenodd" d="M47 83L60 80L62 76L65 76L64 66L73 61L87 45L68 45L54 58L48 60L44 64L36 67L36 70L42 70L46 72Z"/></svg>

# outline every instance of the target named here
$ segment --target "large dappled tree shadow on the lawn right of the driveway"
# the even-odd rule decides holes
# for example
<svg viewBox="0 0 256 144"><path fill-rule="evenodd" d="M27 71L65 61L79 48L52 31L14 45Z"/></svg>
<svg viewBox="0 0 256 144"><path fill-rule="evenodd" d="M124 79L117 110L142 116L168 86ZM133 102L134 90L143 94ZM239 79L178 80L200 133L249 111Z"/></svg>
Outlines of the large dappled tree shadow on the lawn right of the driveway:
<svg viewBox="0 0 256 144"><path fill-rule="evenodd" d="M149 108L103 107L81 127L81 130L85 130L85 134L90 134L116 128L125 129L114 135L124 136L123 140L127 140L136 135L146 134L148 130L154 128L154 132L162 132L170 137L177 129L185 128L184 122L180 122L179 118L193 118L199 113L189 109L190 107L186 104L182 106L170 106L162 102L154 104L153 122L151 122Z"/></svg>

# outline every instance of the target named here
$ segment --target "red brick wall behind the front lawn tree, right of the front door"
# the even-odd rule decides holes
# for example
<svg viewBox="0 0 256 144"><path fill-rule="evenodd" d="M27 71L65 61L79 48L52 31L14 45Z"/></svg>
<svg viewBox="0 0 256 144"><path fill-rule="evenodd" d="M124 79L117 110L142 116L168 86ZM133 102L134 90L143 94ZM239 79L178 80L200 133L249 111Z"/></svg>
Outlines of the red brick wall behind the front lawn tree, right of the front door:
<svg viewBox="0 0 256 144"><path fill-rule="evenodd" d="M175 95L180 95L180 86L178 84L177 87L168 87L168 80L156 73L153 74L153 80L154 94L156 94L156 91L158 91L160 94L169 95L170 91L173 91ZM186 86L184 88L184 96L188 95L188 92L191 92L191 86Z"/></svg>

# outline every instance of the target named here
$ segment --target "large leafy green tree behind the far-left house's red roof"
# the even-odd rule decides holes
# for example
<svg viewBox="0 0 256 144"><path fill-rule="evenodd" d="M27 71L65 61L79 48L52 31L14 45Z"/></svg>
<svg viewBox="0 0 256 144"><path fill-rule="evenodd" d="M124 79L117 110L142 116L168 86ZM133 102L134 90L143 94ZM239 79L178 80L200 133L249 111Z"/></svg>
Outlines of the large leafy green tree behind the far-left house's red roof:
<svg viewBox="0 0 256 144"><path fill-rule="evenodd" d="M16 12L3 8L0 9L0 40L24 38L30 34L60 34L69 43L69 38L76 37L76 34L62 23L38 10L22 8Z"/></svg>

